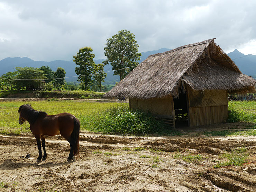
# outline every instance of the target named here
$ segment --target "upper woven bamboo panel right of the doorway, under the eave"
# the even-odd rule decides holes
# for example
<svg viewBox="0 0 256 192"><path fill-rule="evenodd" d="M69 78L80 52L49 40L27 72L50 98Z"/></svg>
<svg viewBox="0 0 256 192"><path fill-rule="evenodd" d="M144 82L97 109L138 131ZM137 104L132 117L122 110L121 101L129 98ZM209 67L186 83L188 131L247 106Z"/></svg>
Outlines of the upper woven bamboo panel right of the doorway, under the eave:
<svg viewBox="0 0 256 192"><path fill-rule="evenodd" d="M226 90L198 91L191 88L189 91L189 107L227 105Z"/></svg>

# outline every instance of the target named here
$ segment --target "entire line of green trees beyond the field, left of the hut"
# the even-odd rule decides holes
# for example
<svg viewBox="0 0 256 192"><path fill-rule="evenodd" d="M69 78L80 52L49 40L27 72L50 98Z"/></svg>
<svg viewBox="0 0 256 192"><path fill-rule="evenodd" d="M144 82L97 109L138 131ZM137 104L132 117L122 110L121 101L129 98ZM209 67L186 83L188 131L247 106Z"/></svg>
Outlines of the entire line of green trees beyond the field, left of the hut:
<svg viewBox="0 0 256 192"><path fill-rule="evenodd" d="M137 61L140 60L141 54L137 53L139 45L135 40L135 35L127 30L121 30L112 38L107 39L105 45L107 59L103 61L103 64L95 64L93 61L95 55L91 47L79 49L73 57L73 62L77 65L75 72L79 75L79 84L67 83L66 72L63 68L53 71L49 66L16 67L14 72L7 72L0 77L0 90L82 89L107 92L114 85L102 85L107 76L103 67L110 63L112 70L115 70L114 75L119 75L122 80L139 64Z"/></svg>

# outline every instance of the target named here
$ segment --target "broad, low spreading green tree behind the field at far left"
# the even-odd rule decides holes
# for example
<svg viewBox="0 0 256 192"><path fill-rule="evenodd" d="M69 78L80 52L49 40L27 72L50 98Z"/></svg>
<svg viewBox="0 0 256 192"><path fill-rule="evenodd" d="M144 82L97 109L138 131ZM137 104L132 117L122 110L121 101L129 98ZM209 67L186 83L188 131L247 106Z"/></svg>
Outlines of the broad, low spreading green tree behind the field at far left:
<svg viewBox="0 0 256 192"><path fill-rule="evenodd" d="M13 84L18 90L37 90L44 82L42 79L46 78L44 71L39 68L15 67L15 70L16 75L14 77L16 80L13 80Z"/></svg>

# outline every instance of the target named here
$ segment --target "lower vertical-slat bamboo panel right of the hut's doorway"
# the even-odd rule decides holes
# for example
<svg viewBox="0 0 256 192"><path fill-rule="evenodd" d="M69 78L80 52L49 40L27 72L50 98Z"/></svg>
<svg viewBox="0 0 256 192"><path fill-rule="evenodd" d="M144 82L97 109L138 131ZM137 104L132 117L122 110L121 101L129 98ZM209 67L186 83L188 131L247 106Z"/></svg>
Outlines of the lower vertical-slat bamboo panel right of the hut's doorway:
<svg viewBox="0 0 256 192"><path fill-rule="evenodd" d="M227 105L189 108L190 127L208 124L218 124L227 119Z"/></svg>

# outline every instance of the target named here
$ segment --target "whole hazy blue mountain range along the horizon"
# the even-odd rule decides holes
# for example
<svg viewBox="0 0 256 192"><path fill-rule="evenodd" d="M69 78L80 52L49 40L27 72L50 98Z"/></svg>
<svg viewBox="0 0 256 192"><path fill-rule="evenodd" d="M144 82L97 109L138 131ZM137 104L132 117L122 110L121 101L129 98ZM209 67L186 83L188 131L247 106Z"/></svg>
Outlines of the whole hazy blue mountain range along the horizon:
<svg viewBox="0 0 256 192"><path fill-rule="evenodd" d="M144 61L149 55L161 53L168 51L170 49L162 48L154 51L147 51L141 53L141 59L138 61L141 63ZM238 66L240 71L249 76L256 76L256 55L248 54L244 55L235 49L233 52L227 54ZM95 64L102 63L104 59L94 60ZM15 67L41 67L41 66L49 66L53 71L56 71L58 67L64 68L66 71L66 81L76 81L77 74L75 73L76 64L73 60L64 61L64 60L55 60L51 62L46 61L34 61L28 57L7 57L0 61L0 76L9 71L15 71ZM104 71L107 72L107 77L105 79L105 84L113 84L115 82L119 82L119 76L113 75L112 66L110 64L104 66Z"/></svg>

